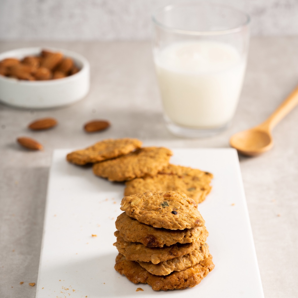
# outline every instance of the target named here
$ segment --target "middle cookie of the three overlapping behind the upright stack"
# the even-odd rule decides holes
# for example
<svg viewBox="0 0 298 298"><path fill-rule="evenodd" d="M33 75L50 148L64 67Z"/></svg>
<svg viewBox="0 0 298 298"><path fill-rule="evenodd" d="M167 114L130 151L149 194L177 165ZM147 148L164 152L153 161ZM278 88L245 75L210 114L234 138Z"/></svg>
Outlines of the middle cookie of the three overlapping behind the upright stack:
<svg viewBox="0 0 298 298"><path fill-rule="evenodd" d="M115 159L93 165L95 175L110 181L126 181L145 175L156 175L169 164L171 150L145 147Z"/></svg>

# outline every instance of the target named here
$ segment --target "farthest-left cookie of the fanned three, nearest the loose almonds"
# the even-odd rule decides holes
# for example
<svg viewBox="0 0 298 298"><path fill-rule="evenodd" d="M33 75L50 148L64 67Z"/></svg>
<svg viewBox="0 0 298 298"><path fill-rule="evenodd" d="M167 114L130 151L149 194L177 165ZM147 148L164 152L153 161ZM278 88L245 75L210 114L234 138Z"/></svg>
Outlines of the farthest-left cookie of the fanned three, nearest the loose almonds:
<svg viewBox="0 0 298 298"><path fill-rule="evenodd" d="M86 149L71 152L66 159L74 164L84 165L128 154L141 146L142 142L138 139L106 139Z"/></svg>

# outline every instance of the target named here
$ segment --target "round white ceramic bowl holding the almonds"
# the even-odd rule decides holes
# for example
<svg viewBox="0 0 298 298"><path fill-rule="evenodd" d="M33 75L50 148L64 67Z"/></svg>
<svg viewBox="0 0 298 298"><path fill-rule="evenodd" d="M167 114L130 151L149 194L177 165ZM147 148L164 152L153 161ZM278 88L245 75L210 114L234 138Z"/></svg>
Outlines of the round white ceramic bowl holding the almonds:
<svg viewBox="0 0 298 298"><path fill-rule="evenodd" d="M42 49L61 52L64 56L72 58L80 71L69 77L45 81L17 80L0 75L0 100L3 103L21 108L53 108L75 103L86 96L90 87L90 65L86 58L77 53L34 47L1 53L0 60L38 55Z"/></svg>

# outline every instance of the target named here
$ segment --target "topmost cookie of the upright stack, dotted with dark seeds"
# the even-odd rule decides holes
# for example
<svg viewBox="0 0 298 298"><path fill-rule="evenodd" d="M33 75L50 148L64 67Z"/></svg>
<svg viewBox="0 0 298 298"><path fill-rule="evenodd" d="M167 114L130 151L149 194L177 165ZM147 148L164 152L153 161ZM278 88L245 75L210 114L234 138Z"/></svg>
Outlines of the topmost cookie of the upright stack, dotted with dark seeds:
<svg viewBox="0 0 298 298"><path fill-rule="evenodd" d="M120 209L155 228L183 230L205 224L195 201L176 191L148 191L126 196Z"/></svg>

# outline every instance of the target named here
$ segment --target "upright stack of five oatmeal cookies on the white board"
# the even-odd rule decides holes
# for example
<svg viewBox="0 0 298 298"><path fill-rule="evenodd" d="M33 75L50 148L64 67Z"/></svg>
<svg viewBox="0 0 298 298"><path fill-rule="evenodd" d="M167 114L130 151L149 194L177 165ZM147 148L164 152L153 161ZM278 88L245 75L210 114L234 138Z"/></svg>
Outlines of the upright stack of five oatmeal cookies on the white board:
<svg viewBox="0 0 298 298"><path fill-rule="evenodd" d="M115 269L153 290L184 289L214 268L197 204L184 193L148 191L122 199Z"/></svg>

